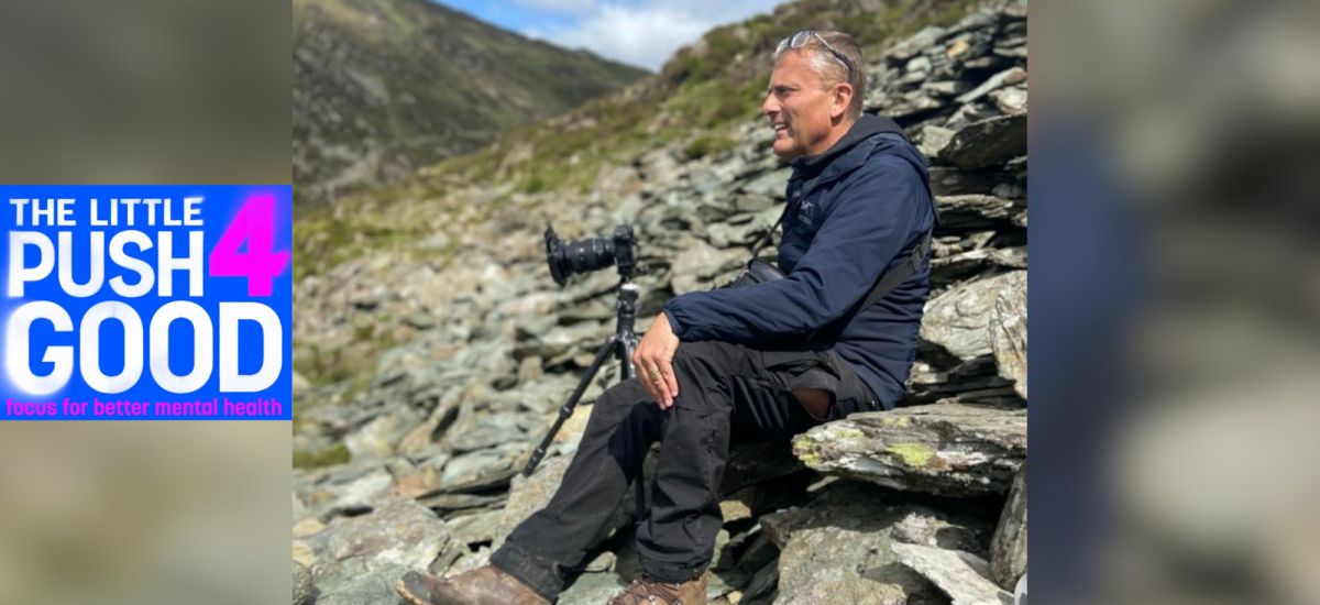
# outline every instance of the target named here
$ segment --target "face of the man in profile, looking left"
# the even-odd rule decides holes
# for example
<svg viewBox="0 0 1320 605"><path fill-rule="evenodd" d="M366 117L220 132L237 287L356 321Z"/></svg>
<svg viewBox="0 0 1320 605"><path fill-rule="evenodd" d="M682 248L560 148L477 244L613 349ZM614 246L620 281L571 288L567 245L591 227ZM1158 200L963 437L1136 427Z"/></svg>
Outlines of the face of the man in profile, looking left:
<svg viewBox="0 0 1320 605"><path fill-rule="evenodd" d="M834 87L825 89L803 59L801 52L784 53L770 74L770 90L760 112L775 128L775 155L785 160L829 149L837 116ZM846 85L845 85L846 86Z"/></svg>

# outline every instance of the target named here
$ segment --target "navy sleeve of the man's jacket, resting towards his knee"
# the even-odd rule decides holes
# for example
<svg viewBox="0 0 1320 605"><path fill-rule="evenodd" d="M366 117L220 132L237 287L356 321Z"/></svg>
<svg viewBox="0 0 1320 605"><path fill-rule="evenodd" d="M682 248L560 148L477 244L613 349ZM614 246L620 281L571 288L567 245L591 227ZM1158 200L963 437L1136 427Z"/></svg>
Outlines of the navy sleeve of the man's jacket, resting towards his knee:
<svg viewBox="0 0 1320 605"><path fill-rule="evenodd" d="M873 157L837 186L833 209L791 273L671 299L664 310L675 336L730 342L805 336L862 300L912 239L929 202L921 176L894 156Z"/></svg>

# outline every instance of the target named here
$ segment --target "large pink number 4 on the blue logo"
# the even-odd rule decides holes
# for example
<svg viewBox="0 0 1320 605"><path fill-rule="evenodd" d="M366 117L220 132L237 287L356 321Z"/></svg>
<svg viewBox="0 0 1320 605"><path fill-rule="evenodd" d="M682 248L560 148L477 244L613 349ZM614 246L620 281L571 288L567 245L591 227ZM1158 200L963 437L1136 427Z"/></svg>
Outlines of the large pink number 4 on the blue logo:
<svg viewBox="0 0 1320 605"><path fill-rule="evenodd" d="M220 277L247 277L248 296L271 296L271 280L289 263L289 252L272 252L275 247L275 198L257 196L248 198L230 229L211 250L211 275ZM247 239L247 252L239 246Z"/></svg>

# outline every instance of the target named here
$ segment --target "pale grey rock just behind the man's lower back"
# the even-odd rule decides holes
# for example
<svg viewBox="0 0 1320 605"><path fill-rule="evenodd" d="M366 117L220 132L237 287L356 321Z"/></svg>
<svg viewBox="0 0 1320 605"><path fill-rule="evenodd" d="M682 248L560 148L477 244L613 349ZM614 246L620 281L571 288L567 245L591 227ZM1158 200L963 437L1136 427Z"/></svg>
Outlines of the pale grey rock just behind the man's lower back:
<svg viewBox="0 0 1320 605"><path fill-rule="evenodd" d="M1020 292L1026 299L1026 271L1012 271L950 288L927 302L920 338L964 361L990 354L994 301L1010 292Z"/></svg>

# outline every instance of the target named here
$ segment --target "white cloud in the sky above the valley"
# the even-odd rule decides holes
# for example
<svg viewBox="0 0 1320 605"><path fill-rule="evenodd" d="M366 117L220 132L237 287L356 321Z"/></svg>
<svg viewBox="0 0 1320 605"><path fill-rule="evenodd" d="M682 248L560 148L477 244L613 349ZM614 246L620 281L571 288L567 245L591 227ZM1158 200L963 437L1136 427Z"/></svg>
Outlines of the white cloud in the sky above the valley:
<svg viewBox="0 0 1320 605"><path fill-rule="evenodd" d="M572 0L517 0L569 4ZM772 0L640 0L599 4L568 26L529 28L524 33L568 48L585 48L623 63L659 70L680 46L711 28L742 21L779 4Z"/></svg>

